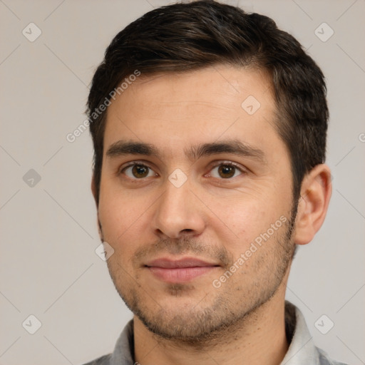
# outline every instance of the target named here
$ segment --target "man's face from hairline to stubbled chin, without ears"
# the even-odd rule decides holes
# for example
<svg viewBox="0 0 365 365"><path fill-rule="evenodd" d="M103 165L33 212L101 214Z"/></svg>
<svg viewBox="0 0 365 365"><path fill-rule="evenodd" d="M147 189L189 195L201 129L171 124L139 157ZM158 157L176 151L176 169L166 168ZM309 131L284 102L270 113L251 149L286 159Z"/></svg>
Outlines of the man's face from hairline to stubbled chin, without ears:
<svg viewBox="0 0 365 365"><path fill-rule="evenodd" d="M108 107L98 217L115 288L145 327L194 340L284 283L292 173L264 73L138 78Z"/></svg>

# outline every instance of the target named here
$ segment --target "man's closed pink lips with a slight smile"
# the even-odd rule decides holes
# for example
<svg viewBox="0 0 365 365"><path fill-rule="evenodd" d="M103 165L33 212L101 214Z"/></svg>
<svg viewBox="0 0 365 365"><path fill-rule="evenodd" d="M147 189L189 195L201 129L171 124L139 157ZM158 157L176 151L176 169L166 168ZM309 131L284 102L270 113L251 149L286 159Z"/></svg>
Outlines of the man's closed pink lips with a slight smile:
<svg viewBox="0 0 365 365"><path fill-rule="evenodd" d="M148 271L157 279L168 283L190 282L203 274L220 267L214 262L206 262L195 257L183 259L155 259L145 264Z"/></svg>

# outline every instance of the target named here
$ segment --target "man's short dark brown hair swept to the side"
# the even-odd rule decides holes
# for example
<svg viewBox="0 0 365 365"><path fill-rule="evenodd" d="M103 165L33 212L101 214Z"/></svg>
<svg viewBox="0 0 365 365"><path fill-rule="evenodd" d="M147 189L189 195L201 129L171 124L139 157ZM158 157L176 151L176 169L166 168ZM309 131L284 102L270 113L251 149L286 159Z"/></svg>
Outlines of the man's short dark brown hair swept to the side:
<svg viewBox="0 0 365 365"><path fill-rule="evenodd" d="M98 193L106 111L95 110L110 100L110 92L136 70L146 76L217 64L269 72L277 103L275 125L289 151L294 200L299 198L304 175L325 159L329 112L324 75L272 19L212 0L154 9L120 31L106 49L87 104Z"/></svg>

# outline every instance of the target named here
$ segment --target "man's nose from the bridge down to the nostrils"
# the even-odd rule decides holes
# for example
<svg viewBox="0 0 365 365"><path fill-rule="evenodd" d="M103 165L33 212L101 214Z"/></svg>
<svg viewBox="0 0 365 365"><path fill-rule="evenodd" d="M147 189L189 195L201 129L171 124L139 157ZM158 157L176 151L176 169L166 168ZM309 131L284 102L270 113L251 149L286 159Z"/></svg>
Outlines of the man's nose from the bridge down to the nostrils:
<svg viewBox="0 0 365 365"><path fill-rule="evenodd" d="M186 182L175 187L169 180L165 192L155 205L153 230L161 238L178 239L184 235L197 236L205 229L204 205L192 193Z"/></svg>

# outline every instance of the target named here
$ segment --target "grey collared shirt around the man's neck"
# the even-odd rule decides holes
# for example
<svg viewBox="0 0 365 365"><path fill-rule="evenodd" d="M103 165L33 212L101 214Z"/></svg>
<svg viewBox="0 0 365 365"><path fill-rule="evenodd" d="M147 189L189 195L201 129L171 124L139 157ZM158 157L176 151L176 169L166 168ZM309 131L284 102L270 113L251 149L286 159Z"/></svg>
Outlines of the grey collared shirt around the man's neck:
<svg viewBox="0 0 365 365"><path fill-rule="evenodd" d="M331 360L326 352L314 346L302 312L288 301L285 301L285 331L289 349L281 365L346 365ZM133 319L131 319L120 334L113 354L101 356L84 365L133 365L135 364L133 356Z"/></svg>

